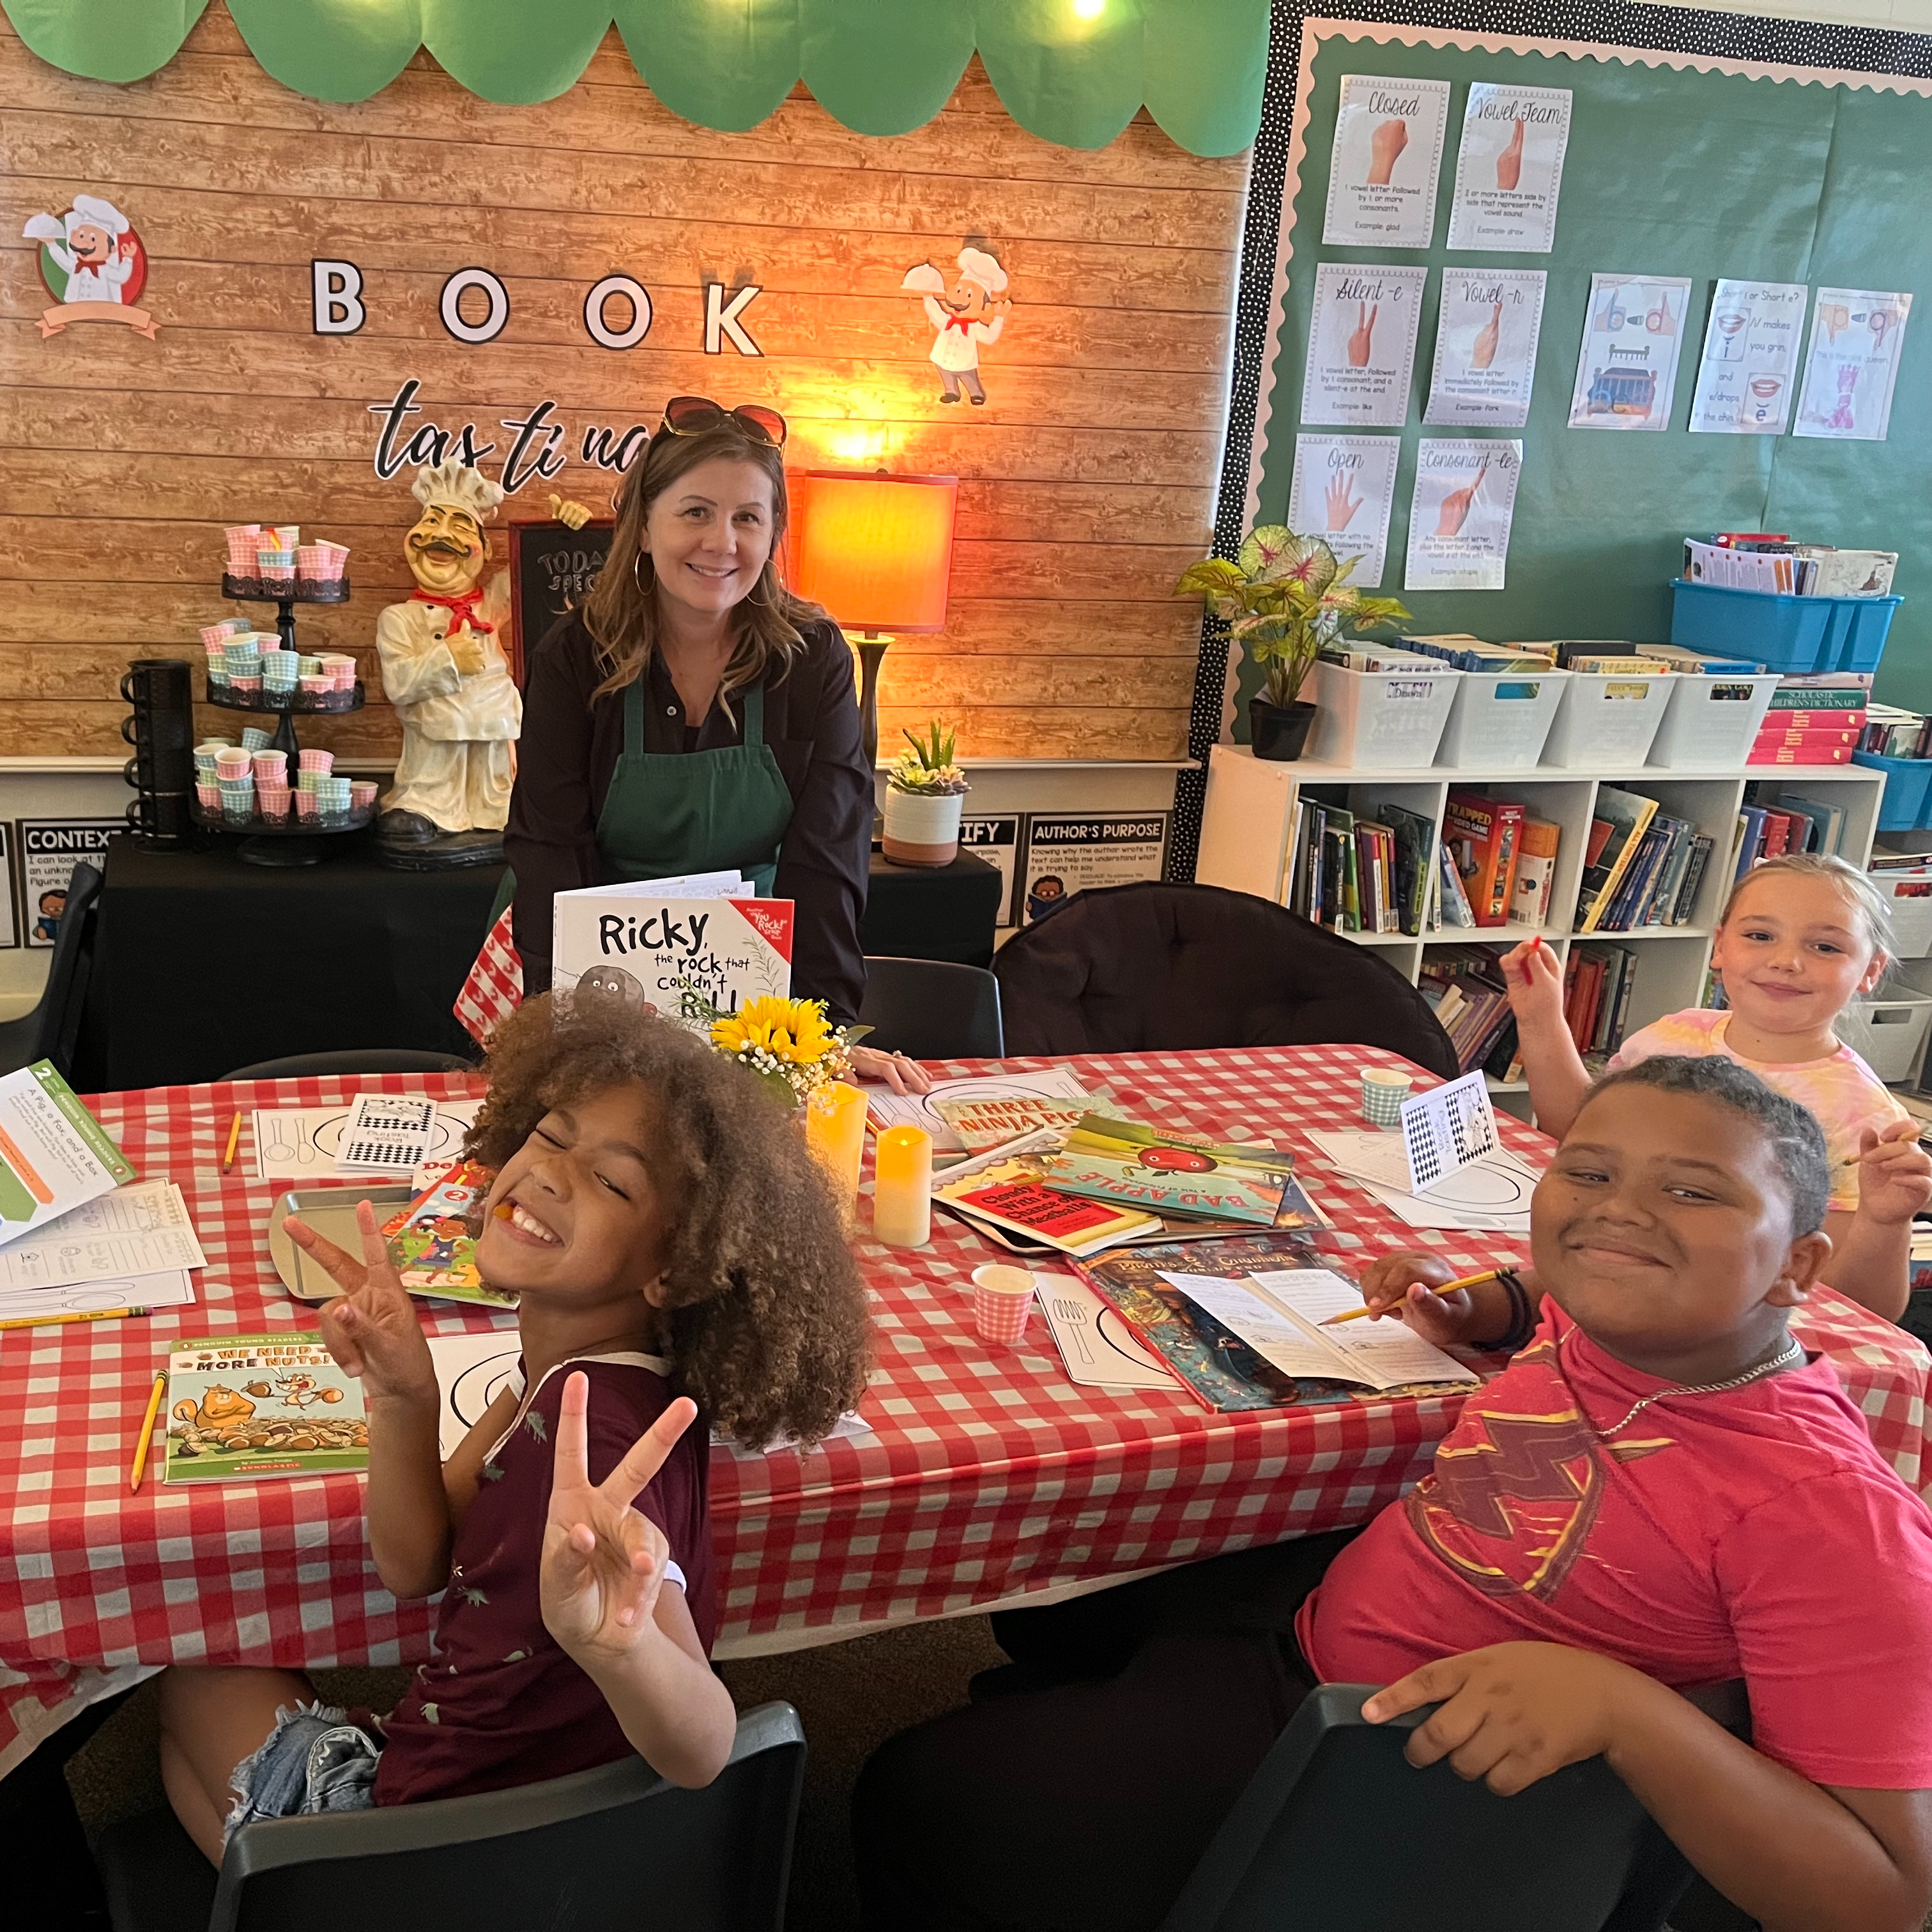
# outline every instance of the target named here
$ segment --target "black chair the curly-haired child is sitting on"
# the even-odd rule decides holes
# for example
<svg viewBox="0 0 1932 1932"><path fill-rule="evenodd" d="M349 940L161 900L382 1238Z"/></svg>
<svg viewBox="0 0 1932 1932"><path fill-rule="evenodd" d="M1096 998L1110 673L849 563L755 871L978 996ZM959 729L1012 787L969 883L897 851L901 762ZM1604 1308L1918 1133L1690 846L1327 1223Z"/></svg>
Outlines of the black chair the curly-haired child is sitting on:
<svg viewBox="0 0 1932 1932"><path fill-rule="evenodd" d="M798 1712L761 1704L703 1791L626 1758L514 1791L243 1826L218 1878L172 1812L110 1826L95 1857L114 1932L779 1932L804 1776Z"/></svg>

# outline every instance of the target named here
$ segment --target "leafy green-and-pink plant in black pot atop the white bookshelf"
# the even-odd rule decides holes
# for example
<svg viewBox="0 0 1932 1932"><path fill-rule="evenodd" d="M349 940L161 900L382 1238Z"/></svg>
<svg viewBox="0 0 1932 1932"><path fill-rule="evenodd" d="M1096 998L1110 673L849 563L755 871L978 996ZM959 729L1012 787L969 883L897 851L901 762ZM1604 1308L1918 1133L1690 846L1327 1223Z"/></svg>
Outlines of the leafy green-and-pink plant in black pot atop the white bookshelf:
<svg viewBox="0 0 1932 1932"><path fill-rule="evenodd" d="M1316 707L1302 678L1325 643L1408 616L1393 597L1347 583L1360 558L1337 562L1321 537L1296 537L1287 524L1250 531L1238 556L1208 556L1180 572L1175 595L1196 593L1229 626L1267 682L1248 699L1248 742L1256 757L1293 759L1308 744Z"/></svg>

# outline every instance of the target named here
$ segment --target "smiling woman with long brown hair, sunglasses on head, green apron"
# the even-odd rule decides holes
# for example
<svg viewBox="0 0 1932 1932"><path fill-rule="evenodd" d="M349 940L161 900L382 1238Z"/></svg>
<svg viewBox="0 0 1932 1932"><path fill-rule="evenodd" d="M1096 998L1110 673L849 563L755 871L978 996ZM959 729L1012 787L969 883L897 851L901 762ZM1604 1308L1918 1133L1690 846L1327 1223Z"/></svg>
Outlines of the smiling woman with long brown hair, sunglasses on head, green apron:
<svg viewBox="0 0 1932 1932"><path fill-rule="evenodd" d="M504 852L524 991L556 893L738 867L794 900L792 991L858 1018L873 775L838 626L779 580L784 417L674 396L582 611L537 645ZM858 1072L923 1090L902 1055Z"/></svg>

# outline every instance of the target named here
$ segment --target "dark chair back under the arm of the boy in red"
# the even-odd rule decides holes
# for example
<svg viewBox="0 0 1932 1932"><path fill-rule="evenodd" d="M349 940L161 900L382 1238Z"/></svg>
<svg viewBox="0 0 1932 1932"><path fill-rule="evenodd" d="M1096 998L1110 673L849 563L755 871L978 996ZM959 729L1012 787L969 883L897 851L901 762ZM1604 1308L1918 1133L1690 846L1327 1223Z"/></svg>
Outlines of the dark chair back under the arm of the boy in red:
<svg viewBox="0 0 1932 1932"><path fill-rule="evenodd" d="M1057 918L1057 914L1055 914ZM1501 1799L1403 1758L1323 1685L1275 1739L1161 1932L1658 1932L1690 1866L1602 1758Z"/></svg>

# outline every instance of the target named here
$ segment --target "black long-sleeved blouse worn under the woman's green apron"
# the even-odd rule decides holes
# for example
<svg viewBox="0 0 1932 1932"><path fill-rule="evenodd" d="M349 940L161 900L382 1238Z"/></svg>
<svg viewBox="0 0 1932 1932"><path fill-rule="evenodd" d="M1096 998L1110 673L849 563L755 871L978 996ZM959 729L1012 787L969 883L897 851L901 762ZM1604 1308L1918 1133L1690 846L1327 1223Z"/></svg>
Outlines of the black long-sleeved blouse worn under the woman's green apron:
<svg viewBox="0 0 1932 1932"><path fill-rule="evenodd" d="M792 794L792 823L773 893L798 906L792 991L823 999L835 1022L858 1018L866 960L858 922L871 866L873 784L860 742L852 651L829 618L802 626L806 649L765 684L765 744ZM738 719L713 703L688 726L665 661L645 667L643 750L678 755L742 744ZM524 991L551 985L553 896L611 885L597 860L597 819L624 750L624 694L603 684L597 645L576 612L537 645L524 692L524 736L502 844L516 869L512 931Z"/></svg>

